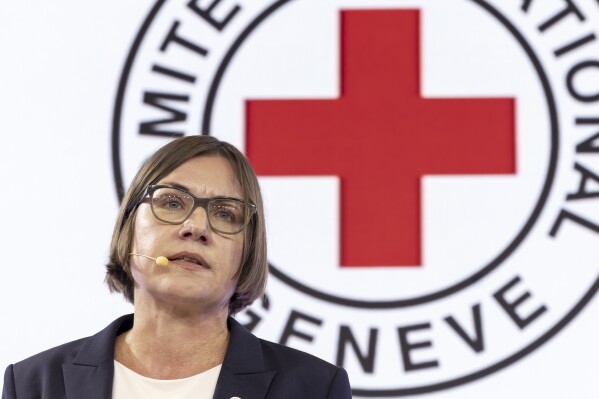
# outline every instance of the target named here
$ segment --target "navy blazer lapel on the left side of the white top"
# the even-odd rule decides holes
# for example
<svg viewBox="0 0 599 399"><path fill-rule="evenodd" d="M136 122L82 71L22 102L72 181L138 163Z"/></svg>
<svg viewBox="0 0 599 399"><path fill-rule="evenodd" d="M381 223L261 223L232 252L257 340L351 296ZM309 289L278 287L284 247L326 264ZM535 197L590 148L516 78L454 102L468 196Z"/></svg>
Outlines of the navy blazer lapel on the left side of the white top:
<svg viewBox="0 0 599 399"><path fill-rule="evenodd" d="M72 363L64 363L65 391L68 399L110 399L114 376L116 336L133 325L133 315L123 316L90 337ZM228 399L228 398L227 398Z"/></svg>

